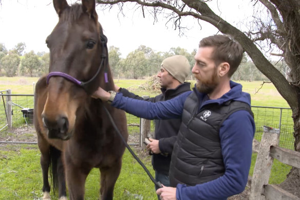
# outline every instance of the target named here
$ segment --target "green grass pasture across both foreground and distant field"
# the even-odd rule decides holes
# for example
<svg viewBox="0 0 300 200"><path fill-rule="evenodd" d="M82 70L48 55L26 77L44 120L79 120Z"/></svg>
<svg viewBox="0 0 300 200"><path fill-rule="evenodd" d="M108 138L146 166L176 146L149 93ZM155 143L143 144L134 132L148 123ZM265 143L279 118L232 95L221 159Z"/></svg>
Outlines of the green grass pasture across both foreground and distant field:
<svg viewBox="0 0 300 200"><path fill-rule="evenodd" d="M33 82L37 82L38 78L0 78L0 90L11 89L12 94L33 94ZM120 87L128 88L130 91L137 95L155 96L160 93L157 91L143 90L138 85L145 84L146 80L115 80L115 84ZM289 107L287 102L279 95L274 85L271 83L265 83L262 88L260 81L255 82L239 82L243 86L243 91L249 93L252 99L252 105L255 106L272 106L272 107ZM192 83L194 84L194 82ZM17 97L12 101L16 104L26 104L28 107L33 107L33 98ZM26 103L24 103L24 101ZM1 99L1 103L2 99ZM23 105L22 104L22 105ZM14 122L16 124L24 124L25 120L19 107L14 107L14 116L18 120ZM255 138L260 140L263 129L261 126L269 125L274 128L279 125L280 114L287 117L282 121L280 127L282 133L280 133L280 145L287 145L293 147L293 133L292 126L293 121L291 119L290 110L264 110L261 108L252 108L255 123L256 134ZM281 113L280 113L281 112ZM5 120L4 113L0 111L0 123L1 120ZM19 116L21 115L21 116ZM139 123L139 118L126 114L128 123ZM138 133L139 128L137 126L128 126L129 134ZM30 133L34 134L34 133ZM0 132L0 136L6 135L13 137L14 133L9 131ZM292 138L292 139L290 139ZM290 148L293 149L293 148ZM153 173L151 166L151 158L142 158L146 163L147 168ZM252 165L250 175L253 174L253 168L256 160L256 154L252 156ZM279 184L285 178L291 167L284 165L283 163L274 161L272 166L270 184ZM0 199L39 199L42 193L42 172L40 167L40 152L36 145L17 145L10 144L0 146ZM52 199L57 199L51 193ZM99 171L97 169L87 177L86 182L86 197L85 199L97 199L99 196ZM154 191L154 185L147 177L146 173L142 170L139 164L133 159L133 157L126 150L123 156L123 166L121 174L118 178L115 187L115 199L156 199Z"/></svg>

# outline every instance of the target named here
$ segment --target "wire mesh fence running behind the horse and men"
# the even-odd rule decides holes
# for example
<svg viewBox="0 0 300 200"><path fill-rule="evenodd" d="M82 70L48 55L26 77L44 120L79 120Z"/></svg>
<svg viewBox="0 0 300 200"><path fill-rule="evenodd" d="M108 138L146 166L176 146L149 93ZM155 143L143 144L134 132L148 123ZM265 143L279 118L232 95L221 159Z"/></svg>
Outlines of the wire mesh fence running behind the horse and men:
<svg viewBox="0 0 300 200"><path fill-rule="evenodd" d="M0 91L0 135L20 126L31 125L33 119L33 95L11 95L9 91ZM279 147L294 149L293 119L290 108L252 106L256 125L255 138L260 141L263 126L280 129ZM126 113L128 133L140 133L140 118ZM155 123L151 123L154 132ZM22 141L20 141L22 142Z"/></svg>

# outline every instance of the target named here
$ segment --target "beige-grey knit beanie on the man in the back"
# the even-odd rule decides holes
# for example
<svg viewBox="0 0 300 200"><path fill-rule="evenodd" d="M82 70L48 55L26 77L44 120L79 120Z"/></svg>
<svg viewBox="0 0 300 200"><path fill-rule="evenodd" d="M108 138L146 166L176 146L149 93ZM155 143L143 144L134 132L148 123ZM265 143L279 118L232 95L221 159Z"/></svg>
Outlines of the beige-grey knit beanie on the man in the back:
<svg viewBox="0 0 300 200"><path fill-rule="evenodd" d="M167 72L180 83L183 83L185 78L188 77L191 68L188 59L181 55L164 59L161 63L161 67L167 70Z"/></svg>

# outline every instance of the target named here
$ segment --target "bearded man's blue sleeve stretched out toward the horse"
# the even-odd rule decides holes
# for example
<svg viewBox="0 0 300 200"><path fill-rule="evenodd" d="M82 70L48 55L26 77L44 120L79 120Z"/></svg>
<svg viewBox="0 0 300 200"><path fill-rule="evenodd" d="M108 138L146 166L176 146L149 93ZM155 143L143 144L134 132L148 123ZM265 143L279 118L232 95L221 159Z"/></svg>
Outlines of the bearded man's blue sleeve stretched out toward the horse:
<svg viewBox="0 0 300 200"><path fill-rule="evenodd" d="M123 97L122 93L117 93L111 105L144 119L175 119L181 118L183 104L189 94L187 92L168 101L152 103Z"/></svg>

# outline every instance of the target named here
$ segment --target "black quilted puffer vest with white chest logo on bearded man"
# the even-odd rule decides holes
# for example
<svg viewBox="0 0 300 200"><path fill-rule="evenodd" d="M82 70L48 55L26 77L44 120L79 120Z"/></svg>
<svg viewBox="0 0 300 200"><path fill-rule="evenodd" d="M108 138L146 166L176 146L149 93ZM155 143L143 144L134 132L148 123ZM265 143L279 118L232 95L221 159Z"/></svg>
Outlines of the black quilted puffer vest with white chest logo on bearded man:
<svg viewBox="0 0 300 200"><path fill-rule="evenodd" d="M196 106L197 105L197 106ZM170 183L194 186L224 174L219 130L232 113L251 107L240 101L204 105L198 112L198 98L192 93L184 102L182 122L174 144L170 165Z"/></svg>

